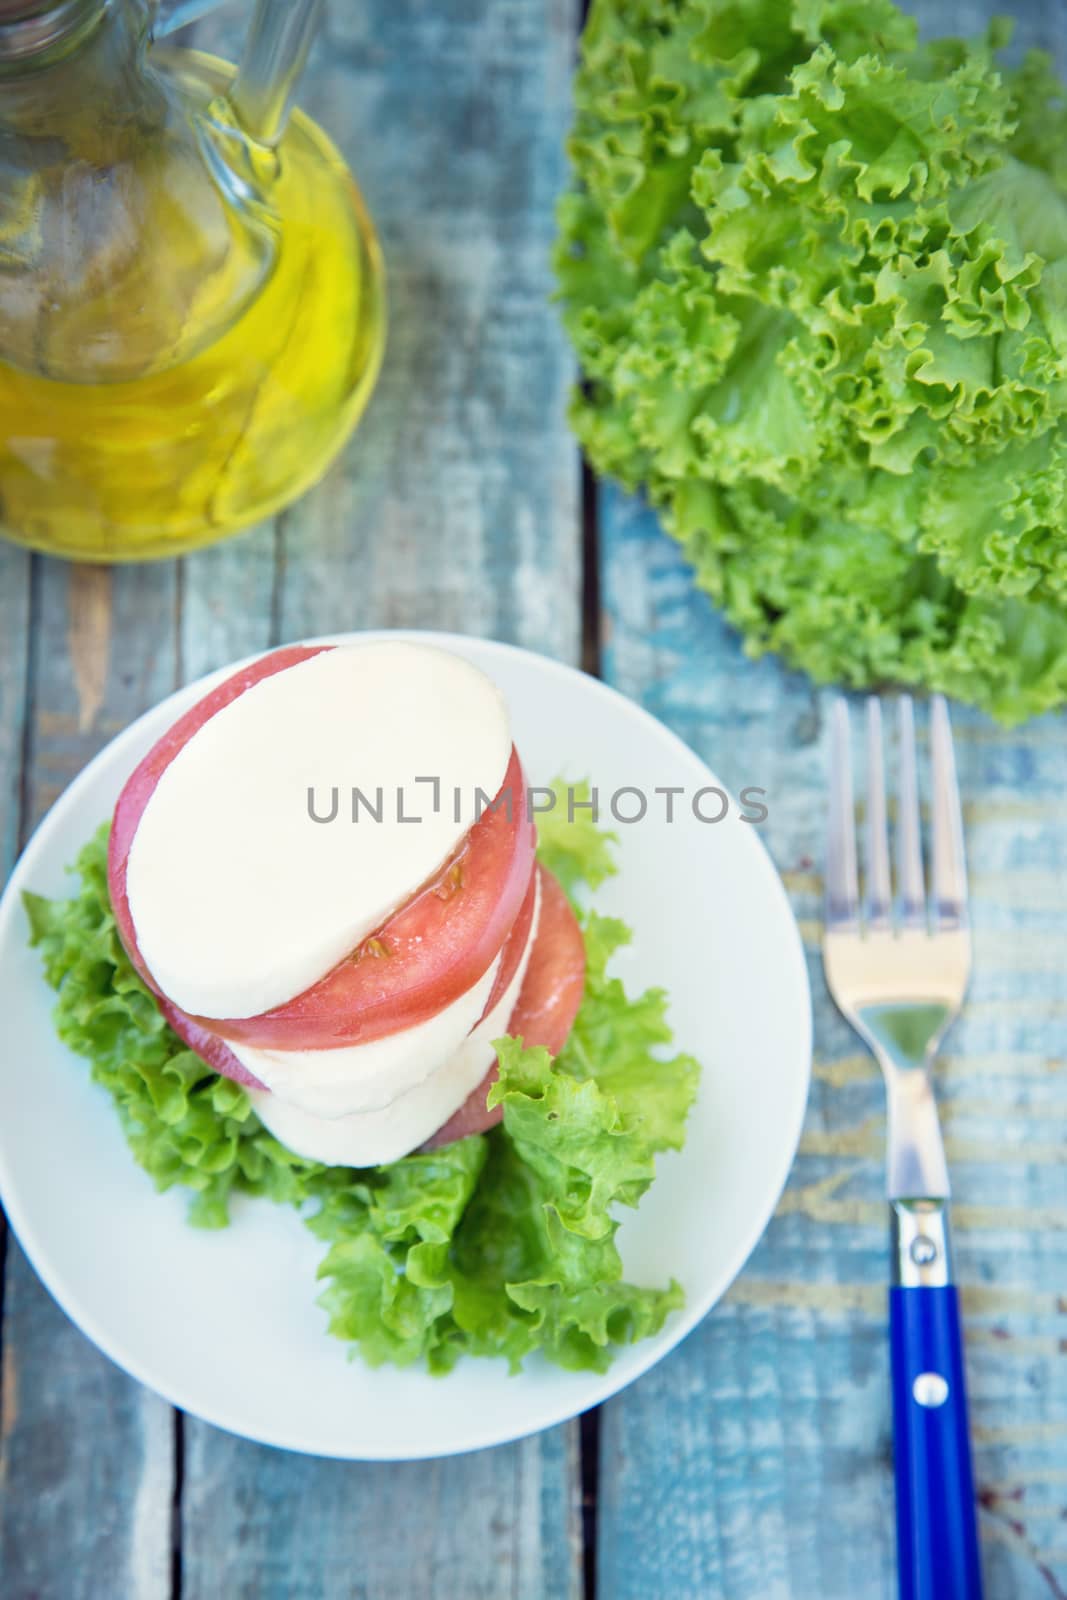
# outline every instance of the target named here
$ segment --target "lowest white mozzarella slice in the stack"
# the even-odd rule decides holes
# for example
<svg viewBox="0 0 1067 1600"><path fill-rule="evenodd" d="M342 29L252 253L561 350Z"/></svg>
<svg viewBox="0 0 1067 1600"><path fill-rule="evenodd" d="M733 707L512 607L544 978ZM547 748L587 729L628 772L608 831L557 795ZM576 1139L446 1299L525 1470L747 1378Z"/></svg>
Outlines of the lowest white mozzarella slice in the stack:
<svg viewBox="0 0 1067 1600"><path fill-rule="evenodd" d="M387 1106L347 1117L315 1117L278 1094L250 1090L248 1098L262 1125L296 1155L325 1162L328 1166L381 1166L418 1150L453 1112L459 1110L493 1066L493 1040L507 1032L530 965L539 917L541 882L537 882L537 904L530 938L515 976L490 1014L424 1082L398 1094Z"/></svg>

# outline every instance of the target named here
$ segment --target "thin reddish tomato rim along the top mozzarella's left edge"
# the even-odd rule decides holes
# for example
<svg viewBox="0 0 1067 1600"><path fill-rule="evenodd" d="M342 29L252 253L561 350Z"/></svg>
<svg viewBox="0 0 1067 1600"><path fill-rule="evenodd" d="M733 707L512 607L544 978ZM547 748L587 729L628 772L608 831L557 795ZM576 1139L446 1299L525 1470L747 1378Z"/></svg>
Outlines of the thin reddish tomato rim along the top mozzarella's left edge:
<svg viewBox="0 0 1067 1600"><path fill-rule="evenodd" d="M234 672L224 683L219 683L210 694L205 694L203 699L197 701L195 706L179 717L173 728L168 728L163 738L152 746L141 765L133 770L123 792L118 795L118 805L110 824L110 838L107 842L107 893L110 894L115 926L118 928L118 938L126 949L126 955L154 994L158 994L160 989L141 958L138 934L130 915L130 899L126 896L126 861L130 859L130 846L133 845L133 835L138 832L138 824L144 816L144 808L178 752L189 744L194 733L203 728L205 722L214 717L216 710L222 710L224 706L229 706L245 690L250 690L253 683L259 683L261 678L274 677L275 672L285 672L286 667L294 667L299 661L307 661L323 650L333 650L333 645L286 645L285 650L274 650L269 656L250 661L246 667ZM195 1050L197 1046L194 1045L192 1048Z"/></svg>

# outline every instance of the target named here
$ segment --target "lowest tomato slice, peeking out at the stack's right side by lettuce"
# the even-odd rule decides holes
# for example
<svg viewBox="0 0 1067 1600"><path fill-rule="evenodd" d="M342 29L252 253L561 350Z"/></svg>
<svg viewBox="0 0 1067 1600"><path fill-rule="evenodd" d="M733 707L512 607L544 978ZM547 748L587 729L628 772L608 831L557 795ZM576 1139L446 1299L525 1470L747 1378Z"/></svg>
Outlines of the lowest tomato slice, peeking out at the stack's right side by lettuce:
<svg viewBox="0 0 1067 1600"><path fill-rule="evenodd" d="M571 902L557 878L544 867L541 874L541 920L537 938L530 952L526 976L507 1022L507 1032L523 1043L544 1045L553 1056L563 1050L585 989L585 941ZM490 1088L496 1083L496 1061L485 1078L458 1112L426 1141L424 1150L464 1139L469 1133L485 1133L504 1117L504 1107L490 1110L485 1104Z"/></svg>

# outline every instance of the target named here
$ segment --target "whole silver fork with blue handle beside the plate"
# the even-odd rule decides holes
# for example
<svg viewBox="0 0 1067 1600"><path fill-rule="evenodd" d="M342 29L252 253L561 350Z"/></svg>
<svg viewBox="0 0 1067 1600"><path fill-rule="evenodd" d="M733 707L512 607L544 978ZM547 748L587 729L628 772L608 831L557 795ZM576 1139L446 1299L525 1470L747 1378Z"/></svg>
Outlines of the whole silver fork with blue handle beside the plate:
<svg viewBox="0 0 1067 1600"><path fill-rule="evenodd" d="M889 874L881 706L867 701L861 901L845 699L832 710L822 958L838 1010L886 1086L889 1350L901 1600L981 1600L974 1475L952 1275L949 1171L929 1077L971 970L952 728L931 702L931 872L923 878L912 701L899 701L896 896Z"/></svg>

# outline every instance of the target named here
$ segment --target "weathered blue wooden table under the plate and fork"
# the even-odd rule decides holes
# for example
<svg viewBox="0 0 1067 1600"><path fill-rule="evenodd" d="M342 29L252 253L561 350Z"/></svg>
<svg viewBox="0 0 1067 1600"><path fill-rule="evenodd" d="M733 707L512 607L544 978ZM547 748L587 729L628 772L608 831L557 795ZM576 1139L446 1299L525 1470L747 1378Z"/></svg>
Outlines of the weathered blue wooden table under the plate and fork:
<svg viewBox="0 0 1067 1600"><path fill-rule="evenodd" d="M1033 5L1027 34L1062 35L1064 19L1062 0L1043 19ZM200 37L232 53L242 21ZM600 1416L442 1464L315 1461L176 1414L67 1323L8 1240L3 1600L894 1592L883 1102L816 957L827 702L744 661L653 518L582 478L547 267L576 34L577 0L334 0L304 101L358 171L389 258L373 408L318 490L229 546L114 573L0 549L0 856L6 869L130 718L280 640L403 624L581 661L731 786L769 792L763 837L816 998L792 1181L726 1301ZM1054 1600L1067 722L1008 734L961 712L957 731L977 963L939 1093L984 1557L990 1600Z"/></svg>

